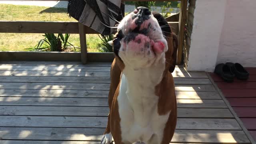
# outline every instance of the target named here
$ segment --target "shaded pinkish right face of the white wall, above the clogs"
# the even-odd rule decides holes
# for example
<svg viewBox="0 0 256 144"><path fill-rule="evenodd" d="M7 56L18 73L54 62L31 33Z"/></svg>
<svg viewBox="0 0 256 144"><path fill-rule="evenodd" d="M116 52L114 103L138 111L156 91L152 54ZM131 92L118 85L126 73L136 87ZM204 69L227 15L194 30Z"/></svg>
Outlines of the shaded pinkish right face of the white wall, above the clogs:
<svg viewBox="0 0 256 144"><path fill-rule="evenodd" d="M227 0L217 63L256 67L256 0Z"/></svg>

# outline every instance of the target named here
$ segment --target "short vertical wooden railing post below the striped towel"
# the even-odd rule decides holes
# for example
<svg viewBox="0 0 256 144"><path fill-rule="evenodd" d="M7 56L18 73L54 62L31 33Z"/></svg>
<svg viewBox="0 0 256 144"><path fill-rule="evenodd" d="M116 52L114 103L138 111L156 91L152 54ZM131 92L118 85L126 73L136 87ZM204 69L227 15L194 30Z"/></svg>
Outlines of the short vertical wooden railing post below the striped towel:
<svg viewBox="0 0 256 144"><path fill-rule="evenodd" d="M79 37L80 37L80 47L81 47L81 62L82 64L86 64L87 62L87 47L86 47L86 32L85 25L78 22L79 28Z"/></svg>

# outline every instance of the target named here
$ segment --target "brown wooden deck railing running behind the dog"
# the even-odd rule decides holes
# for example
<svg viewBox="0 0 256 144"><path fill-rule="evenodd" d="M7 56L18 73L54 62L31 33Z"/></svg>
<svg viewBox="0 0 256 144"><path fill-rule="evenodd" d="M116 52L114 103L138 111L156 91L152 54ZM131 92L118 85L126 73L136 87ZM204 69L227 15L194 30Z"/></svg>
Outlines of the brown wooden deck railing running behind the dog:
<svg viewBox="0 0 256 144"><path fill-rule="evenodd" d="M15 1L15 0L13 0ZM18 1L18 0L17 0ZM48 0L45 0L48 1ZM68 0L61 0L68 1ZM124 0L131 1L131 0ZM137 0L137 1L152 1L152 0ZM164 0L157 0L164 1ZM170 0L179 1L179 0ZM186 1L185 3L183 1ZM186 8L187 0L182 0L182 6ZM181 8L182 9L182 8ZM169 22L176 32L181 31L180 26L184 20L180 14L179 22ZM186 20L186 19L185 19ZM179 27L178 27L179 25ZM183 26L184 27L184 26ZM88 53L86 48L86 34L98 34L95 30L84 26L79 22L28 22L28 21L0 21L0 33L69 33L80 34L81 52L0 52L0 60L65 60L65 61L81 61L83 64L89 61L112 61L114 55L112 53ZM182 33L180 37L183 38ZM65 56L63 53L66 53ZM52 54L52 56L50 56ZM49 58L45 58L49 55ZM70 56L69 56L70 55ZM80 55L78 58L78 55ZM64 57L62 57L64 56ZM178 63L181 62L182 47L178 50ZM52 59L51 59L52 58ZM179 60L180 59L180 60Z"/></svg>

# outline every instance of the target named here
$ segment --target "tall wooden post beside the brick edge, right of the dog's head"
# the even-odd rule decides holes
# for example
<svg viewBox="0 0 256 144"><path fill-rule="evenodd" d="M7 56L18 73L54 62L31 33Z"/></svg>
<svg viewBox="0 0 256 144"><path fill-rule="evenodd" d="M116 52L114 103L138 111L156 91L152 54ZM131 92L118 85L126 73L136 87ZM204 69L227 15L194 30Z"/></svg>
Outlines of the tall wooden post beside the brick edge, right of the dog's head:
<svg viewBox="0 0 256 144"><path fill-rule="evenodd" d="M187 10L188 0L181 1L181 10L180 10L180 18L179 18L179 46L177 53L177 62L176 64L181 64L182 62L182 51L183 51L183 42L184 42L184 28L186 24L186 10Z"/></svg>

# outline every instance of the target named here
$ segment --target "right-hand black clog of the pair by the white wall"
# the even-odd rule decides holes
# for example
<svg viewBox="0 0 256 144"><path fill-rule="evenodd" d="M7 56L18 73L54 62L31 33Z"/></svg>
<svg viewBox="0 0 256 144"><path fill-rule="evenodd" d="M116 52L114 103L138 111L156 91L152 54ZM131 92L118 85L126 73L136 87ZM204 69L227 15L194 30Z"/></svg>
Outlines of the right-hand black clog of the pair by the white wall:
<svg viewBox="0 0 256 144"><path fill-rule="evenodd" d="M236 77L239 80L247 80L249 77L249 72L247 72L244 67L241 64L238 63L232 63L232 62L227 62L226 65L230 67L232 72L236 75Z"/></svg>

